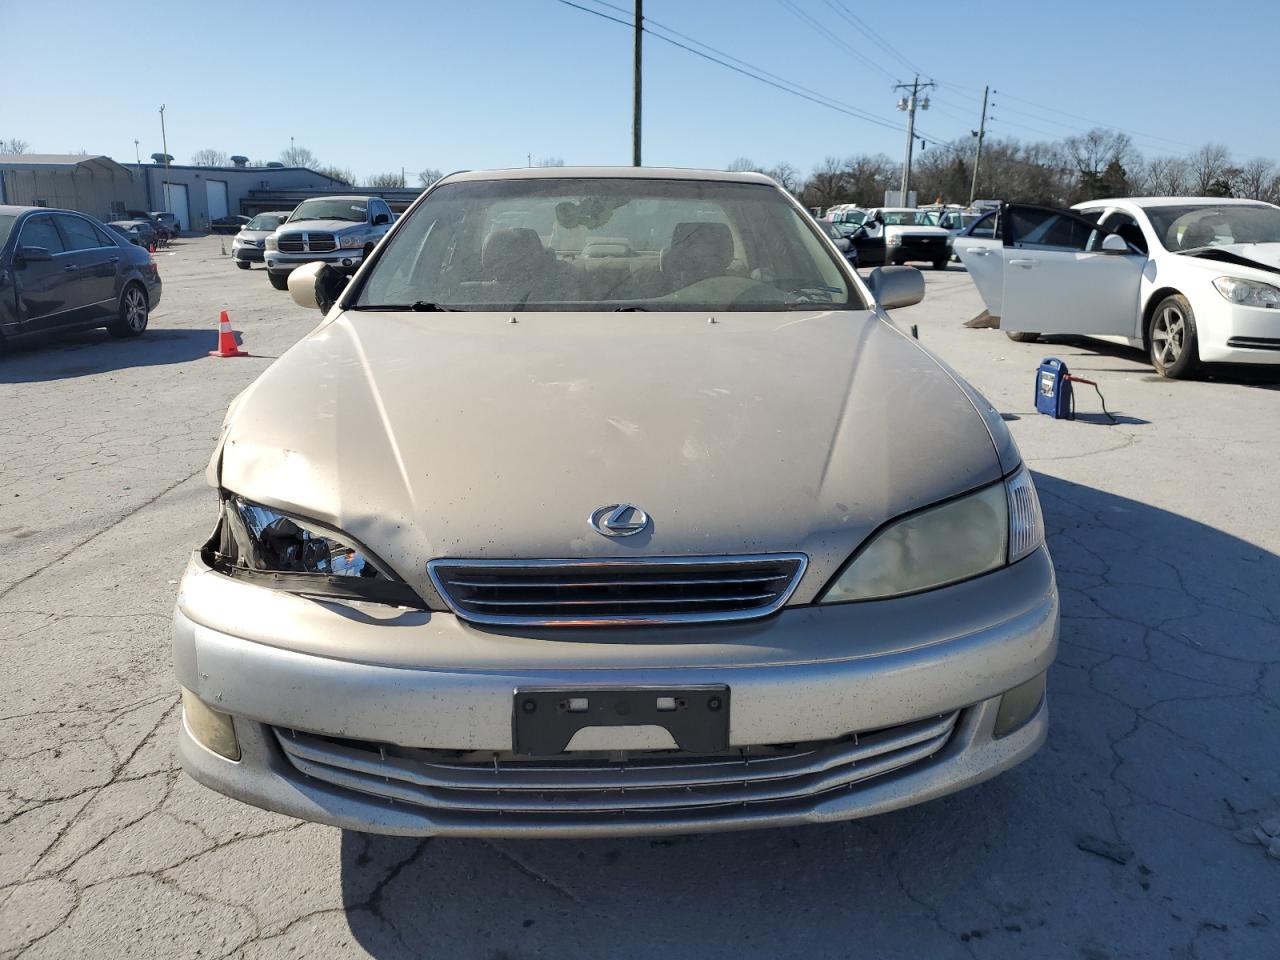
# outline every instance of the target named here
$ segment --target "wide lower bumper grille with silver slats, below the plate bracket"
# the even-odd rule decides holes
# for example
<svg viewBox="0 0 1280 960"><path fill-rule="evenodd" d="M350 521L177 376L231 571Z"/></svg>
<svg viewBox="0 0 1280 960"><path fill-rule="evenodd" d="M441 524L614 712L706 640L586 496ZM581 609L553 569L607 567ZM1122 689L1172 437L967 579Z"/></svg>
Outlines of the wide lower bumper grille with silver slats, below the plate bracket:
<svg viewBox="0 0 1280 960"><path fill-rule="evenodd" d="M712 755L628 751L625 759L596 753L535 759L461 754L274 730L294 769L358 794L449 817L603 819L812 803L934 755L959 717L955 712L836 740Z"/></svg>

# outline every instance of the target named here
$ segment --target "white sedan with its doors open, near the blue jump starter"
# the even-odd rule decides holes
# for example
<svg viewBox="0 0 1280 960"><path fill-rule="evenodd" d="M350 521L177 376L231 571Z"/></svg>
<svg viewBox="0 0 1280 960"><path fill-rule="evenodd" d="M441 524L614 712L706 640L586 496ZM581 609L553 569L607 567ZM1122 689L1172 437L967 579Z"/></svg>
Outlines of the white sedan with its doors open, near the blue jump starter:
<svg viewBox="0 0 1280 960"><path fill-rule="evenodd" d="M1280 364L1280 207L1221 197L1009 204L955 250L1015 340L1142 347L1164 376Z"/></svg>

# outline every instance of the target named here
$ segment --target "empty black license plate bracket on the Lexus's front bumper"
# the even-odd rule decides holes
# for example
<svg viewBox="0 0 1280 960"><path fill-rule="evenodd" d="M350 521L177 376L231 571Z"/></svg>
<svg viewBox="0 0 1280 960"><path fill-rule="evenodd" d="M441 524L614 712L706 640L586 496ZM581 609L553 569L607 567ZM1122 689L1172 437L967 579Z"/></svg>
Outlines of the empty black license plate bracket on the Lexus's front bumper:
<svg viewBox="0 0 1280 960"><path fill-rule="evenodd" d="M686 753L728 750L726 685L673 687L521 687L512 708L515 751L564 753L585 727L662 727Z"/></svg>

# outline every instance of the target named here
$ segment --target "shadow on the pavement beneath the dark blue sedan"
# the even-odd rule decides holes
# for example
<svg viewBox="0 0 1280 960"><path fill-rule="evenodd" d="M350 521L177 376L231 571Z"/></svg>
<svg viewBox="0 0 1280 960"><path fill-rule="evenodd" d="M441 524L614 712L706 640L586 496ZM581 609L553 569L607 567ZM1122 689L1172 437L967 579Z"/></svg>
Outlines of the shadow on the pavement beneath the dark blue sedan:
<svg viewBox="0 0 1280 960"><path fill-rule="evenodd" d="M218 348L218 330L156 329L131 339L106 330L50 334L10 346L0 360L0 384L44 383L111 370L187 364Z"/></svg>

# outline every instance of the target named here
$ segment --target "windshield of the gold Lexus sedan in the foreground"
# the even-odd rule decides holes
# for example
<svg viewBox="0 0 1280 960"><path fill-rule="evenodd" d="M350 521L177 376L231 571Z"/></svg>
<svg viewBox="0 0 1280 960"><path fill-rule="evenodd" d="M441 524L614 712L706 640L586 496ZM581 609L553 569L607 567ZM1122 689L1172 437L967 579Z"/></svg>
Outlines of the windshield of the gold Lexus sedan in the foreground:
<svg viewBox="0 0 1280 960"><path fill-rule="evenodd" d="M863 308L776 188L658 179L449 183L407 214L355 308Z"/></svg>

